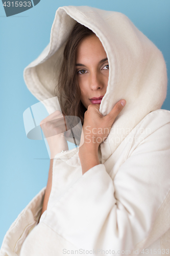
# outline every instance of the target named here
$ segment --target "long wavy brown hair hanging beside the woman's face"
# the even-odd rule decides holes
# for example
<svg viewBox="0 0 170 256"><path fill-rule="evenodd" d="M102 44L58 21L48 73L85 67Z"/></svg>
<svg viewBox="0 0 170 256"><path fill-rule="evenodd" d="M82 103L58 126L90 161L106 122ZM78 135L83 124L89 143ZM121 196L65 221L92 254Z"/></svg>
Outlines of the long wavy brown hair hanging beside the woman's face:
<svg viewBox="0 0 170 256"><path fill-rule="evenodd" d="M92 30L76 23L66 42L58 85L55 88L63 115L79 117L82 125L87 109L80 100L81 91L77 81L76 56L80 42L91 35L94 35Z"/></svg>

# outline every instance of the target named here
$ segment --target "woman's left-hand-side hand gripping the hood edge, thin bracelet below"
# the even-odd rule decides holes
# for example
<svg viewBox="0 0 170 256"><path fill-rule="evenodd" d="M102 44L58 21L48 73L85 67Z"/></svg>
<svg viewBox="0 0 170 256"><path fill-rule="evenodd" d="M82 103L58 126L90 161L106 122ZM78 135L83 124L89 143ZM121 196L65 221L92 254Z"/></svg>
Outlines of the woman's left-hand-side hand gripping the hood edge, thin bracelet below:
<svg viewBox="0 0 170 256"><path fill-rule="evenodd" d="M68 150L68 144L64 137L67 131L65 118L61 111L57 110L53 114L47 116L40 122L41 129L50 147L51 157L53 159L56 154L62 150ZM68 137L70 130L65 133Z"/></svg>

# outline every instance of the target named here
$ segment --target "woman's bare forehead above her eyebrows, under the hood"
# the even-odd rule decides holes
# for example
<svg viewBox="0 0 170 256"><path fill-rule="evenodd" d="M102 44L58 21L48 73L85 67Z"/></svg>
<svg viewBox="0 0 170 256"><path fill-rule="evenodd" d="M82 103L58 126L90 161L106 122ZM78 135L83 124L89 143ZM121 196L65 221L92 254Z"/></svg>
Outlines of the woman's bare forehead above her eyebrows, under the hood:
<svg viewBox="0 0 170 256"><path fill-rule="evenodd" d="M84 38L77 49L77 61L88 58L105 58L107 57L105 49L96 35L91 35Z"/></svg>

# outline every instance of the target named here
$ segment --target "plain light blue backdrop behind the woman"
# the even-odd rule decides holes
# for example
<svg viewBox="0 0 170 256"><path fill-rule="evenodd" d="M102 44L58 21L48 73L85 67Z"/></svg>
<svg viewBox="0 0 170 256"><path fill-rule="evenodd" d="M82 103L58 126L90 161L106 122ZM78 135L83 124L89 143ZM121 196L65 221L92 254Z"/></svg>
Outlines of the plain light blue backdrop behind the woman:
<svg viewBox="0 0 170 256"><path fill-rule="evenodd" d="M170 77L169 0L62 0L62 6L81 4L126 14L161 50ZM0 246L18 214L47 183L50 158L45 143L29 140L23 125L23 112L38 102L25 85L23 69L50 41L55 12L60 6L61 1L41 0L30 10L6 17L0 3ZM170 110L169 81L162 109Z"/></svg>

